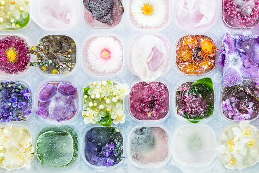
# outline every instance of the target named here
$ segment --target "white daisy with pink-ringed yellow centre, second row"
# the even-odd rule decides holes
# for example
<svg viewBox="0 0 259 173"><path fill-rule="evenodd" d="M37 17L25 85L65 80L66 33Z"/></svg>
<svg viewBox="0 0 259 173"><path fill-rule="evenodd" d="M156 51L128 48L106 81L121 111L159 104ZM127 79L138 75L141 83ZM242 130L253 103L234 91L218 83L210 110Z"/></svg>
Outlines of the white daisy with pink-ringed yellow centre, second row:
<svg viewBox="0 0 259 173"><path fill-rule="evenodd" d="M89 64L95 72L112 73L122 66L122 45L113 37L97 37L90 43L87 54Z"/></svg>

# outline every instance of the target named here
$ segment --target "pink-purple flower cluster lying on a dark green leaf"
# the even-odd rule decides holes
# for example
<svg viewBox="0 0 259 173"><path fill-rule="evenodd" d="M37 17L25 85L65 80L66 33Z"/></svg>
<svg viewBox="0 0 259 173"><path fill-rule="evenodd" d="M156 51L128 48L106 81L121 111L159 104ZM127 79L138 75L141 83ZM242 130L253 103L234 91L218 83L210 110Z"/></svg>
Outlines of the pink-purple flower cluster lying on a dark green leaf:
<svg viewBox="0 0 259 173"><path fill-rule="evenodd" d="M180 116L184 116L185 113L188 113L192 118L196 115L202 117L205 116L204 112L208 110L208 104L202 100L200 94L189 93L187 90L180 101L180 108L181 109L178 109Z"/></svg>

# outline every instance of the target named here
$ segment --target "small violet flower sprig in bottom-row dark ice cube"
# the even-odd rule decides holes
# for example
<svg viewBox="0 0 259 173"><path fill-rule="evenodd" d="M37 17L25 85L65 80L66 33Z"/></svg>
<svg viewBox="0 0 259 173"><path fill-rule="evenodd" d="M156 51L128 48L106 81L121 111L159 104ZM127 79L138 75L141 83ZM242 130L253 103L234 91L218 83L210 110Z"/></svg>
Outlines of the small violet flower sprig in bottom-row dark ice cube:
<svg viewBox="0 0 259 173"><path fill-rule="evenodd" d="M122 146L121 146L122 149ZM106 158L102 158L100 160L106 160L105 166L112 166L118 164L117 160L122 159L122 153L118 153L117 148L115 147L114 143L111 144L107 143L105 146L102 147L101 154Z"/></svg>

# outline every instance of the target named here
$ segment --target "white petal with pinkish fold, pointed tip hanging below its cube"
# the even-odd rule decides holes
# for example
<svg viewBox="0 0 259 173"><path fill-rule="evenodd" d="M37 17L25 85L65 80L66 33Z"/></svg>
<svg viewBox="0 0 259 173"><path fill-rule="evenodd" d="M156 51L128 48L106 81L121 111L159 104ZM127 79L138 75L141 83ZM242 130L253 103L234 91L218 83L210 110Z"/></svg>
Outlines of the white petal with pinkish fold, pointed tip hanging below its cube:
<svg viewBox="0 0 259 173"><path fill-rule="evenodd" d="M137 38L132 48L131 65L133 71L146 83L159 78L169 67L164 42L154 35Z"/></svg>

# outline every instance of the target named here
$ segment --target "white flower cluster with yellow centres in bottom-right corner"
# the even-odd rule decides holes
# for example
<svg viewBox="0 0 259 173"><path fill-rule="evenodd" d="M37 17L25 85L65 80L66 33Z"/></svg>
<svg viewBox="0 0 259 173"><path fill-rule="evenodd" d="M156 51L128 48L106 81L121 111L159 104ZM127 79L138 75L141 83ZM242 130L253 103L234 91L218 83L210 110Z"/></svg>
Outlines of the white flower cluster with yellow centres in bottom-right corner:
<svg viewBox="0 0 259 173"><path fill-rule="evenodd" d="M219 158L228 169L244 169L259 162L259 130L241 121L227 127L221 134L217 147Z"/></svg>

